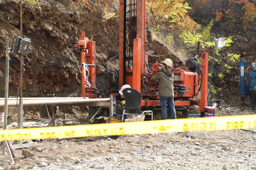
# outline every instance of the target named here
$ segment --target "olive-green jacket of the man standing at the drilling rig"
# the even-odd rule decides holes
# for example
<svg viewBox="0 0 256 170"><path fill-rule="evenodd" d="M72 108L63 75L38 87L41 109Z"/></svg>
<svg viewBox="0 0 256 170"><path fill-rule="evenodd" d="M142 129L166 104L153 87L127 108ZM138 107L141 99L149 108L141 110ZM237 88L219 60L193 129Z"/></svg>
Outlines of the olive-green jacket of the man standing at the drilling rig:
<svg viewBox="0 0 256 170"><path fill-rule="evenodd" d="M151 78L153 81L159 80L159 96L174 97L173 77L172 70L164 69Z"/></svg>

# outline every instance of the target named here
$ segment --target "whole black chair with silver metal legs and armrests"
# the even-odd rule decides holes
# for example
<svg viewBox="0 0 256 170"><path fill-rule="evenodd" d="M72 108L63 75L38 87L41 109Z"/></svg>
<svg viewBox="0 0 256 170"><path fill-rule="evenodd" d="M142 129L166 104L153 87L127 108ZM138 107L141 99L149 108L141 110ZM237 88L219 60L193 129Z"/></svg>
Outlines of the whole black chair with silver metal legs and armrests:
<svg viewBox="0 0 256 170"><path fill-rule="evenodd" d="M124 115L132 115L132 121L134 121L135 115L141 115L140 121L142 121L143 115L151 115L151 120L153 121L153 112L151 110L140 110L141 94L138 90L126 88L123 90L123 95L125 100L125 110L123 112L122 122L124 120Z"/></svg>

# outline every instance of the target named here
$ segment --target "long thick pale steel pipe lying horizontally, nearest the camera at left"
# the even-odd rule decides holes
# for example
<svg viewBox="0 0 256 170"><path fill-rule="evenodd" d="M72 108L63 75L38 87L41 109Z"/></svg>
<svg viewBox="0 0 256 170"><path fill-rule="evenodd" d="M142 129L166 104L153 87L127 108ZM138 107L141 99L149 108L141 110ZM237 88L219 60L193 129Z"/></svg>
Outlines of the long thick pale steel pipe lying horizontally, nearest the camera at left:
<svg viewBox="0 0 256 170"><path fill-rule="evenodd" d="M59 99L59 100L23 100L23 106L40 106L40 105L66 105L66 104L94 104L99 102L110 102L110 98L104 99ZM17 101L8 101L8 107L15 107ZM19 101L18 101L19 106ZM0 107L4 107L4 101L0 101Z"/></svg>

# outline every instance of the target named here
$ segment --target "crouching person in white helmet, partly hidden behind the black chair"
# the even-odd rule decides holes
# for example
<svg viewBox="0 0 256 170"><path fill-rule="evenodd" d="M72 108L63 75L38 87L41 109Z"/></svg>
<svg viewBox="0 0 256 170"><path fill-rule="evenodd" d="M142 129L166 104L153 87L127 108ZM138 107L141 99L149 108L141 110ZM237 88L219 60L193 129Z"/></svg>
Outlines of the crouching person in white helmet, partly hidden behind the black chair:
<svg viewBox="0 0 256 170"><path fill-rule="evenodd" d="M125 110L125 100L123 95L123 90L126 88L131 88L130 85L123 85L119 92L116 94L113 100L113 116L122 121L123 112ZM132 118L131 115L124 115L124 120L127 118Z"/></svg>

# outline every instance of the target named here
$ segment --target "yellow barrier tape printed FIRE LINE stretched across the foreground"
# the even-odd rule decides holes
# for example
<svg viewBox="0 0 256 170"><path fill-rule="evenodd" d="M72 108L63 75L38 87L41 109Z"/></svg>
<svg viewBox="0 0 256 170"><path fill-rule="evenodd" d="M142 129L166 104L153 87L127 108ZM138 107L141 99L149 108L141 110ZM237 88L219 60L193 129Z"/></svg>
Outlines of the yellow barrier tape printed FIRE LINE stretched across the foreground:
<svg viewBox="0 0 256 170"><path fill-rule="evenodd" d="M256 128L256 115L0 130L0 141Z"/></svg>

